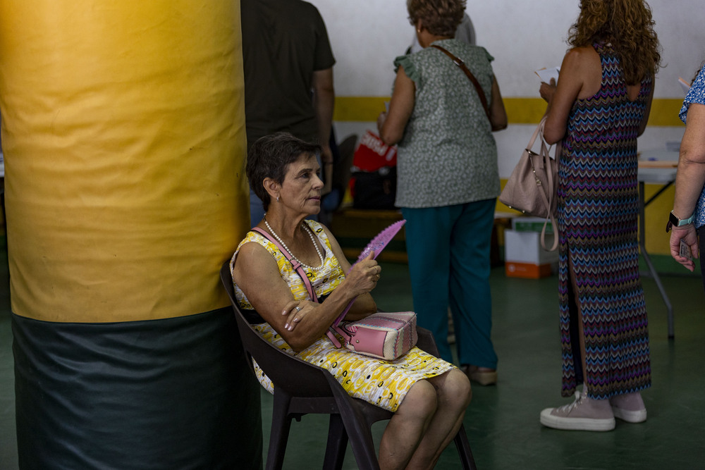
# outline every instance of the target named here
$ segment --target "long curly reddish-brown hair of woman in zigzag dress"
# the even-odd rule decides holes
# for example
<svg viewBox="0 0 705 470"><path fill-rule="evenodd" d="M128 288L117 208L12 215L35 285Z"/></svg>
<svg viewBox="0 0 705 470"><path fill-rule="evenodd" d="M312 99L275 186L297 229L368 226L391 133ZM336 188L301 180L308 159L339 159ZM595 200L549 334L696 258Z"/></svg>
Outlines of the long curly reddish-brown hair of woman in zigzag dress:
<svg viewBox="0 0 705 470"><path fill-rule="evenodd" d="M644 0L581 0L568 44L584 47L594 42L612 44L627 85L654 76L661 63L651 8Z"/></svg>

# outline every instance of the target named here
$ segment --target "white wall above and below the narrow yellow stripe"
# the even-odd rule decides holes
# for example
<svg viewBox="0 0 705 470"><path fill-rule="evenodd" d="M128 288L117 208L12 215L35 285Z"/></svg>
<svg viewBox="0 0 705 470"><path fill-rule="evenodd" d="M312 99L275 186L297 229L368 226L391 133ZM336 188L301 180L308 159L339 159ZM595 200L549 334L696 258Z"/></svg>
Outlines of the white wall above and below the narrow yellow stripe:
<svg viewBox="0 0 705 470"><path fill-rule="evenodd" d="M414 34L405 0L309 0L326 21L336 56L336 95L385 97L394 79L392 61L403 54ZM559 66L568 45L568 28L577 17L578 0L469 1L467 13L477 42L495 57L497 81L504 97L539 97L533 71ZM663 68L654 96L682 99L678 77L690 80L705 61L703 0L651 0L656 32L663 47ZM374 130L374 123L336 123L338 138ZM533 125L510 125L496 133L502 178L508 178ZM680 141L683 128L650 127L639 149L663 148Z"/></svg>

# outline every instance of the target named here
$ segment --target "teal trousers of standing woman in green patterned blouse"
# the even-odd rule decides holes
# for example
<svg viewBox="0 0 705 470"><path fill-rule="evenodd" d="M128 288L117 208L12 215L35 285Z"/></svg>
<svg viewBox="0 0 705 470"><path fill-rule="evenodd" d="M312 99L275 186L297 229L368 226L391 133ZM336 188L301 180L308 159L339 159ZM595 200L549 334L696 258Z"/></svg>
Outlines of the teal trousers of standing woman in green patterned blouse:
<svg viewBox="0 0 705 470"><path fill-rule="evenodd" d="M460 364L496 369L491 340L490 243L495 199L403 208L417 323L431 330L441 357L448 345L448 307Z"/></svg>

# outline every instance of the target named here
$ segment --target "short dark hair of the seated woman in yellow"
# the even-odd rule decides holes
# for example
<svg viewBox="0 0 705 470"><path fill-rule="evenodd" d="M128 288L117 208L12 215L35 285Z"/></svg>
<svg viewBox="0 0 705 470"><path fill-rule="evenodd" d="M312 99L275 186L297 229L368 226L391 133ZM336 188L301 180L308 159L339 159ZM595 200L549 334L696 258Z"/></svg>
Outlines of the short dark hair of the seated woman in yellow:
<svg viewBox="0 0 705 470"><path fill-rule="evenodd" d="M271 200L262 185L264 178L271 178L281 185L289 163L297 161L302 155L317 156L320 152L318 145L304 142L288 132L265 135L252 144L247 152L247 181L262 200L265 211L269 209Z"/></svg>

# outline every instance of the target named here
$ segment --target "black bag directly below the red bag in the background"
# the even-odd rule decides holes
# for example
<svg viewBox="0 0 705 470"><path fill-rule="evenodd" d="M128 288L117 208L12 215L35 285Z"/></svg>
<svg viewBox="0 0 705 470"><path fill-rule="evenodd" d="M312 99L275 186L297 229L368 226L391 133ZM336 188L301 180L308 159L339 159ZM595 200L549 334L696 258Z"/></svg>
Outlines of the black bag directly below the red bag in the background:
<svg viewBox="0 0 705 470"><path fill-rule="evenodd" d="M396 209L396 166L383 166L377 171L358 171L355 178L355 209Z"/></svg>

